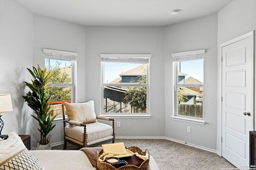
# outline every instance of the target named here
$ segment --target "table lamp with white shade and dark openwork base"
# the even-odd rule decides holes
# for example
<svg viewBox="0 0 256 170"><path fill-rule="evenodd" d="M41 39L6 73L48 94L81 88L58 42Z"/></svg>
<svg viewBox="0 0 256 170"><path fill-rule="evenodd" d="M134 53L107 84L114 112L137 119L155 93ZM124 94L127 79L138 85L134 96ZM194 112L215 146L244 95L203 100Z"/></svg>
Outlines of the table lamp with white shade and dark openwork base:
<svg viewBox="0 0 256 170"><path fill-rule="evenodd" d="M4 127L4 121L1 119L1 113L9 111L12 111L11 94L0 94L0 137L2 139L4 138L1 136L1 132Z"/></svg>

